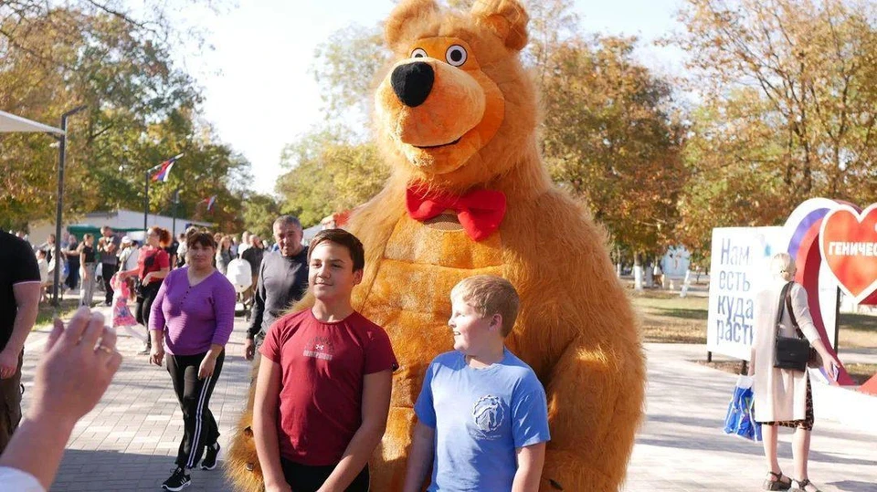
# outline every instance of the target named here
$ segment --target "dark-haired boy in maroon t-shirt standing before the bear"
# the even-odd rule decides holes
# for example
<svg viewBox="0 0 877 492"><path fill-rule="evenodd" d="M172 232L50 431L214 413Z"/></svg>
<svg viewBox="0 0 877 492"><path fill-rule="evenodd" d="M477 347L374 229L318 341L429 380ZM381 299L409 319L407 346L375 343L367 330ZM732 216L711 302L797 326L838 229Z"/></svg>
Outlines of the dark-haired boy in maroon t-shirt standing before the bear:
<svg viewBox="0 0 877 492"><path fill-rule="evenodd" d="M308 263L313 308L275 321L259 349L253 432L265 488L366 492L396 356L384 329L351 306L365 267L359 239L324 230Z"/></svg>

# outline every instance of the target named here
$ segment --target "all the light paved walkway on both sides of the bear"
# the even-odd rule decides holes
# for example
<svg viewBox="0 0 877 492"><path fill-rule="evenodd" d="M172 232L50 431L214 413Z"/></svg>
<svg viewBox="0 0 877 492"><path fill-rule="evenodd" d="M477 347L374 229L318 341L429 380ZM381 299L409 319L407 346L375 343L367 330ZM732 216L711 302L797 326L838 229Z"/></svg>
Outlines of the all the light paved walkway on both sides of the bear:
<svg viewBox="0 0 877 492"><path fill-rule="evenodd" d="M246 398L249 375L242 357L245 323L238 319L211 408L219 422L219 443L227 448L231 429ZM27 341L24 382L48 333ZM170 378L135 355L140 342L120 333L122 369L98 406L70 437L53 491L154 491L174 467L182 415ZM625 492L760 490L765 475L761 445L722 433L735 376L690 360L703 358L702 346L647 344L647 418L639 432ZM841 354L841 358L843 355ZM28 393L25 393L25 406ZM780 435L780 460L791 466L791 434ZM877 434L841 424L817 422L810 454L810 476L827 492L877 492ZM220 465L223 458L219 455ZM193 470L188 490L231 490L222 467ZM383 492L383 491L381 491ZM574 491L578 492L578 491Z"/></svg>

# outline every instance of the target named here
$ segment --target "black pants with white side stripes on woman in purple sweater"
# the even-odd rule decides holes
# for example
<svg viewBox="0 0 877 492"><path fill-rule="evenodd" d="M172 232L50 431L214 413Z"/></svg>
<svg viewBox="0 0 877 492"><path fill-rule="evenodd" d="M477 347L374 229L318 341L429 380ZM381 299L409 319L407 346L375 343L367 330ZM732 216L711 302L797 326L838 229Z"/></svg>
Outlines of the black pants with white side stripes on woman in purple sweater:
<svg viewBox="0 0 877 492"><path fill-rule="evenodd" d="M217 366L213 375L200 380L198 369L205 353L197 355L167 354L167 372L174 381L174 392L183 409L183 439L176 455L176 466L194 468L201 461L206 445L214 445L219 438L217 420L210 412L210 395L217 385L219 373L222 372L222 361L226 352L222 351L217 358Z"/></svg>

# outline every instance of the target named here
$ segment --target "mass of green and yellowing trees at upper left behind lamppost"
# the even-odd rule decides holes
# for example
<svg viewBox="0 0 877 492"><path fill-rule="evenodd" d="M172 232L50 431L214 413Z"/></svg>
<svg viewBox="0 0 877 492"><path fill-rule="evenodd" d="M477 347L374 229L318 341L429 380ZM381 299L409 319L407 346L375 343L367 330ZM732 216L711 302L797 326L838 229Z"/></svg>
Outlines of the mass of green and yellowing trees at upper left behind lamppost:
<svg viewBox="0 0 877 492"><path fill-rule="evenodd" d="M165 21L135 20L114 5L0 6L0 107L52 122L87 105L69 125L68 220L94 210L140 209L146 170L185 152L170 181L151 186L151 210L169 215L171 196L180 189L181 216L203 215L220 227L237 228L248 162L200 120L199 89L171 63ZM53 217L52 139L10 134L2 145L0 226ZM200 210L199 203L212 194L219 196L217 208Z"/></svg>

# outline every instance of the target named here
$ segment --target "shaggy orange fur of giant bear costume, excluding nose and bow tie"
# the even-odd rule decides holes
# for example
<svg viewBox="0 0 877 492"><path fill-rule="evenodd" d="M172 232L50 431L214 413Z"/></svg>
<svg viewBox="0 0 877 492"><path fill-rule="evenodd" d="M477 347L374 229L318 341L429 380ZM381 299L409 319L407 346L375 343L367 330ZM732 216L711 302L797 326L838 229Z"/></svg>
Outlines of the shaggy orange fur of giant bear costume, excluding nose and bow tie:
<svg viewBox="0 0 877 492"><path fill-rule="evenodd" d="M453 346L450 289L479 273L508 278L521 296L507 342L533 367L548 397L552 440L540 489L610 491L624 480L643 404L639 336L603 230L544 170L536 143L537 96L518 58L527 20L514 0L481 1L469 13L408 0L386 22L396 66L428 63L436 77L428 98L413 108L396 97L390 75L378 87L378 142L393 173L348 227L366 252L354 308L385 327L401 365L386 434L370 462L373 490L402 487L424 371ZM445 59L453 45L468 52L459 68ZM427 57L409 58L415 48ZM409 183L455 193L499 190L508 211L499 231L474 242L460 227L410 219ZM301 307L311 303L306 298ZM258 467L247 471L256 461L243 431L249 422L247 413L227 468L239 489L255 491L261 481Z"/></svg>

